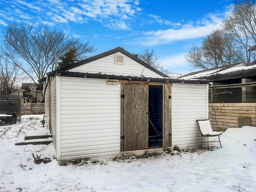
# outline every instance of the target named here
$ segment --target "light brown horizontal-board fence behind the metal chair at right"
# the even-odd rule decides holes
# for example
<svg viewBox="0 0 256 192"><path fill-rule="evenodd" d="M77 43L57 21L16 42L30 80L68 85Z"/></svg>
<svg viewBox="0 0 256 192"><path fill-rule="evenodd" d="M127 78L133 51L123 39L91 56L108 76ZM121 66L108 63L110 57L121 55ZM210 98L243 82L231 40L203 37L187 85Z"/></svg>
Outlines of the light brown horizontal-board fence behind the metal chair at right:
<svg viewBox="0 0 256 192"><path fill-rule="evenodd" d="M209 103L209 120L215 131L238 128L238 118L250 118L256 126L256 103Z"/></svg>

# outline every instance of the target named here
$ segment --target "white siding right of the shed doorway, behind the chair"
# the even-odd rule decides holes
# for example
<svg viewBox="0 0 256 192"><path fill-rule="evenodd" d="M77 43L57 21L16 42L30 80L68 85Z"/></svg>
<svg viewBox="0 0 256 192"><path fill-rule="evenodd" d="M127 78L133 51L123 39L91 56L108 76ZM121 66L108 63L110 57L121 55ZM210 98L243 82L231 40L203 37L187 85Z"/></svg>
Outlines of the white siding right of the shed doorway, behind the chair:
<svg viewBox="0 0 256 192"><path fill-rule="evenodd" d="M172 85L172 146L198 146L197 119L208 118L208 85Z"/></svg>

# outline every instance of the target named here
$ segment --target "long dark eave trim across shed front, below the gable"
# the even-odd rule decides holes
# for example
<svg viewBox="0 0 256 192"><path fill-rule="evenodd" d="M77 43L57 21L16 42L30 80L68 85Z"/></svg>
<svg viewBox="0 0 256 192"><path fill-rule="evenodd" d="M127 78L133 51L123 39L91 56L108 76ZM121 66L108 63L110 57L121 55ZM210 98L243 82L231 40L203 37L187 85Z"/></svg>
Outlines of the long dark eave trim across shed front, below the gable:
<svg viewBox="0 0 256 192"><path fill-rule="evenodd" d="M96 79L110 79L110 80L129 80L129 81L146 81L146 82L166 82L166 83L187 83L187 84L209 84L210 80L201 79L174 79L174 78L147 78L137 76L116 76L106 74L94 74L94 73L80 73L80 72L69 72L69 71L56 71L54 76L65 76L65 77L78 77L78 78L96 78Z"/></svg>

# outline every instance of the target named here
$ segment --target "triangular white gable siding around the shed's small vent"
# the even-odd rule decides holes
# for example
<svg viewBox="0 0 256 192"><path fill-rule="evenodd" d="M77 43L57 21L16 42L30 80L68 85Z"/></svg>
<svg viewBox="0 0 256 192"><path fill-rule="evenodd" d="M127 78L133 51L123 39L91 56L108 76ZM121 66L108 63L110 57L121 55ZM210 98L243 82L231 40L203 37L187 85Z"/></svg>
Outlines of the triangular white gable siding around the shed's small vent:
<svg viewBox="0 0 256 192"><path fill-rule="evenodd" d="M122 54L118 52L118 54ZM121 76L144 76L152 78L161 78L159 74L145 68L138 62L131 58L124 56L124 64L115 64L115 54L106 56L104 58L92 61L90 63L78 66L69 71L84 72L84 73L101 73L107 75L121 75Z"/></svg>

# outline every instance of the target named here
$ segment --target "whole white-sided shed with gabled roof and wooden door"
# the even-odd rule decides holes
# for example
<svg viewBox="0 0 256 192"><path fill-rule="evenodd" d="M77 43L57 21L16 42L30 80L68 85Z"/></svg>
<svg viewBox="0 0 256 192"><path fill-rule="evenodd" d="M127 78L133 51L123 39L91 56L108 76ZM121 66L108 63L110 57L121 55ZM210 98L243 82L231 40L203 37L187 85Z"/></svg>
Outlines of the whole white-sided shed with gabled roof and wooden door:
<svg viewBox="0 0 256 192"><path fill-rule="evenodd" d="M170 78L117 47L39 82L57 160L200 145L196 120L208 118L207 80Z"/></svg>

